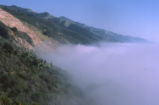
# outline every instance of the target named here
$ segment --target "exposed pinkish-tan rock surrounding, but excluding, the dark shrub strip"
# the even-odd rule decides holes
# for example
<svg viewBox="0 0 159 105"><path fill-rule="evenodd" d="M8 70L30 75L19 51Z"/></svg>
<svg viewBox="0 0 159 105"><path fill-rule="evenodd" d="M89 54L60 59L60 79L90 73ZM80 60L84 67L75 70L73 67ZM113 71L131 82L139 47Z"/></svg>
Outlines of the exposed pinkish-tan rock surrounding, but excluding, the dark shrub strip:
<svg viewBox="0 0 159 105"><path fill-rule="evenodd" d="M27 23L21 22L19 19L17 19L16 17L14 17L13 15L11 15L10 13L6 12L1 8L0 8L0 21L11 29L17 29L17 31L26 33L32 39L34 45L39 45L40 43L42 43L42 40L40 39L41 33L35 27L27 25ZM32 45L30 43L27 43L25 39L17 37L14 31L9 31L9 33L21 45L30 49L32 48Z"/></svg>

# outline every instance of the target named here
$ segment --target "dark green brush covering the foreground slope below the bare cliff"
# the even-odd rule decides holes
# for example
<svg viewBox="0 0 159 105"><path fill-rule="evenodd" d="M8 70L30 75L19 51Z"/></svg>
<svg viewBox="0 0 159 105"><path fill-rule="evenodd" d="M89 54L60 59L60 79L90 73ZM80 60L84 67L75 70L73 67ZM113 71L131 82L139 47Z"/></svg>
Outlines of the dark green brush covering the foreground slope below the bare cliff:
<svg viewBox="0 0 159 105"><path fill-rule="evenodd" d="M60 69L32 52L16 48L8 41L0 44L0 105L56 103L58 95L76 93L67 80Z"/></svg>

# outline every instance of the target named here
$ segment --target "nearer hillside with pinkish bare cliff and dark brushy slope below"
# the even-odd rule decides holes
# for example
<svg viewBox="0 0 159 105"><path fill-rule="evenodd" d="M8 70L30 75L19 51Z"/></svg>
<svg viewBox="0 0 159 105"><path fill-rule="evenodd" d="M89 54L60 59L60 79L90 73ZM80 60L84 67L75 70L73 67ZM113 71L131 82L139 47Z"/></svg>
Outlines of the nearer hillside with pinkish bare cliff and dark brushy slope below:
<svg viewBox="0 0 159 105"><path fill-rule="evenodd" d="M2 9L0 18L0 105L90 104L66 72L35 55L48 37Z"/></svg>

